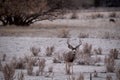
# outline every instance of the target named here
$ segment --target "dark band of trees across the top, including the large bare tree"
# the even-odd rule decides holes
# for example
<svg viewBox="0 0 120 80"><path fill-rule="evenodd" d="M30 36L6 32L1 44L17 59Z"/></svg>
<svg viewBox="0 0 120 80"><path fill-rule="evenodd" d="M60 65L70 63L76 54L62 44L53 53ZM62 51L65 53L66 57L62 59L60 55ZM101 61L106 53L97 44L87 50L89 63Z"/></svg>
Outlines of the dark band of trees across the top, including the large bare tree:
<svg viewBox="0 0 120 80"><path fill-rule="evenodd" d="M26 26L56 9L90 7L120 7L120 0L0 0L0 22Z"/></svg>

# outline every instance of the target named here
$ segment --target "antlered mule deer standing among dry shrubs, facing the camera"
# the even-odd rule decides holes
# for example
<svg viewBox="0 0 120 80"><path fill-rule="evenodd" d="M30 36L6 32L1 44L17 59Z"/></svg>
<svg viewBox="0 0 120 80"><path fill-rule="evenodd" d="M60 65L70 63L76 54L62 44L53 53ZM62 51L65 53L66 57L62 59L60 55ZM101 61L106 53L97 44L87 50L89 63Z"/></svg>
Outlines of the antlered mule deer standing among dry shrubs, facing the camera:
<svg viewBox="0 0 120 80"><path fill-rule="evenodd" d="M70 44L69 39L67 39L67 45L68 45L68 48L71 49L71 51L69 51L68 53L66 53L64 55L64 60L66 62L66 69L70 68L70 66L72 67L72 73L73 73L73 64L71 64L71 63L73 63L73 61L75 60L77 49L80 47L81 44L82 44L82 42L81 42L81 40L79 40L79 44L77 46L73 47Z"/></svg>

